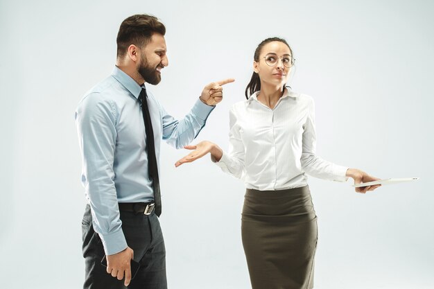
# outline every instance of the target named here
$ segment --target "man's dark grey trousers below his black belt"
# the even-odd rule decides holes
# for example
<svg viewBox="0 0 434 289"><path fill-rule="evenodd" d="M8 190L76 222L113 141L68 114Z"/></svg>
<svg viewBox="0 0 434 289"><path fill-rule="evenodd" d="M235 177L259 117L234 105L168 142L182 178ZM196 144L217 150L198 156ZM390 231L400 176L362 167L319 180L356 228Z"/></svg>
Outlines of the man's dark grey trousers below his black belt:
<svg viewBox="0 0 434 289"><path fill-rule="evenodd" d="M166 249L159 220L155 213L121 211L122 230L128 247L134 251L134 261L140 263L139 272L128 288L166 289ZM83 257L85 258L84 289L121 289L123 280L107 274L101 265L105 255L103 243L94 231L90 206L87 204L82 221Z"/></svg>

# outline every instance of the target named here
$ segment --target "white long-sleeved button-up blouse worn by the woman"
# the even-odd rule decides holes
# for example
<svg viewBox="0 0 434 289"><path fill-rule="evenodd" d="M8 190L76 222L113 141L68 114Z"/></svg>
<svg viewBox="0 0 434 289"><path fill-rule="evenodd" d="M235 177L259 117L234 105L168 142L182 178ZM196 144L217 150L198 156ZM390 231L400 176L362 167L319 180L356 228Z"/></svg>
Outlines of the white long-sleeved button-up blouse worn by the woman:
<svg viewBox="0 0 434 289"><path fill-rule="evenodd" d="M304 173L345 182L347 167L315 155L315 105L305 94L285 89L273 110L257 99L234 104L229 112L229 153L216 162L243 179L248 189L276 191L307 185Z"/></svg>

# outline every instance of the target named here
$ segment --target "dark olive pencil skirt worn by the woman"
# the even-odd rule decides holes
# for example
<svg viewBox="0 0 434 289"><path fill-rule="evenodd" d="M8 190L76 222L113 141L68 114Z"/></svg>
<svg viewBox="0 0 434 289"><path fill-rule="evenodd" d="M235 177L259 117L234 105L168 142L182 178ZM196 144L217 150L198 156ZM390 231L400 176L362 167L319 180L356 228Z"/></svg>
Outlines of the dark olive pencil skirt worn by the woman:
<svg viewBox="0 0 434 289"><path fill-rule="evenodd" d="M247 189L241 221L253 289L311 289L318 240L309 186Z"/></svg>

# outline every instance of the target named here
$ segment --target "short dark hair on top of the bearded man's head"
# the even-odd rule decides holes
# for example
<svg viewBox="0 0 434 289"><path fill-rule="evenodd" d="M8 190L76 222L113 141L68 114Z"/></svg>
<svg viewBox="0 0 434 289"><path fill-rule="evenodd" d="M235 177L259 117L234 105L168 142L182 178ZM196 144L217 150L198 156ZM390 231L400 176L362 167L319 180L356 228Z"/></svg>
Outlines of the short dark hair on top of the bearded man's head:
<svg viewBox="0 0 434 289"><path fill-rule="evenodd" d="M157 17L138 14L123 20L116 37L117 57L123 58L131 44L138 47L148 44L154 33L166 34L166 27Z"/></svg>

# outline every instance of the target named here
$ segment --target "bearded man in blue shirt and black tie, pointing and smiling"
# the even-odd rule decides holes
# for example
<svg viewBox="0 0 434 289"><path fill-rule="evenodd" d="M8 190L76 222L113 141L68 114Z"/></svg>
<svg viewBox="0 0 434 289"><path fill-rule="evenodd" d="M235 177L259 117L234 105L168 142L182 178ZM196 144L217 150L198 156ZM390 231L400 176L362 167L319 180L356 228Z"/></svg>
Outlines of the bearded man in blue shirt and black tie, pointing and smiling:
<svg viewBox="0 0 434 289"><path fill-rule="evenodd" d="M162 139L175 148L191 143L222 100L222 85L234 81L211 82L189 114L174 119L145 87L157 85L168 66L165 33L151 15L125 19L112 74L90 89L76 110L87 199L84 288L167 288L158 220L160 144Z"/></svg>

